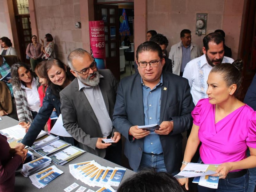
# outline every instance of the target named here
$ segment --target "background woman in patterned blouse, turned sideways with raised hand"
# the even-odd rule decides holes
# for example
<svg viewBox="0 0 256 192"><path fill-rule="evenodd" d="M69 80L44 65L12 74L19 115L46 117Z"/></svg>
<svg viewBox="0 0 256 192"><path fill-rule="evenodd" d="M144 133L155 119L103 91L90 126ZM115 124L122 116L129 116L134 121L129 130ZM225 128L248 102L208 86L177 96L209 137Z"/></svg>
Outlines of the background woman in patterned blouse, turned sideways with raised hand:
<svg viewBox="0 0 256 192"><path fill-rule="evenodd" d="M41 51L44 52L42 59L44 59L44 60L52 59L53 58L53 48L54 48L54 44L52 42L53 37L50 33L47 33L45 35L44 39L46 39L47 44L44 47L44 40L41 39L41 41L42 41Z"/></svg>

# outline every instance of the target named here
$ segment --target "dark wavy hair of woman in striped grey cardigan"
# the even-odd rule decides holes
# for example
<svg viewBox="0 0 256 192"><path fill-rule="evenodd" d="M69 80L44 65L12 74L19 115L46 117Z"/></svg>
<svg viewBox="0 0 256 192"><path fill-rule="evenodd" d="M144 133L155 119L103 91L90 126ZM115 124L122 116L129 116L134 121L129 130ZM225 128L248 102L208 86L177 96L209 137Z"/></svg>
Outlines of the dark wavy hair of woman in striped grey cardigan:
<svg viewBox="0 0 256 192"><path fill-rule="evenodd" d="M30 71L32 77L36 78L36 74L32 71L31 67L26 63L15 63L11 67L11 76L12 76L12 86L20 89L21 84L26 85L23 81L20 80L18 69L24 67Z"/></svg>

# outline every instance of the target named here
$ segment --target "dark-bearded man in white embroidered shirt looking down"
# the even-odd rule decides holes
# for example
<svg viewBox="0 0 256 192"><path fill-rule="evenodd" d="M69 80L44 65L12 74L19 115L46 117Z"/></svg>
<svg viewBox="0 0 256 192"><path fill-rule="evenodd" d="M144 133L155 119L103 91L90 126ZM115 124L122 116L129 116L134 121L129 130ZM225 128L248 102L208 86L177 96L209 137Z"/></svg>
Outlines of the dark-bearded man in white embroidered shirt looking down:
<svg viewBox="0 0 256 192"><path fill-rule="evenodd" d="M183 77L188 79L191 95L196 105L198 100L207 98L207 79L213 66L219 63L232 63L232 58L224 56L225 39L220 33L210 33L203 39L203 53L201 57L188 62Z"/></svg>

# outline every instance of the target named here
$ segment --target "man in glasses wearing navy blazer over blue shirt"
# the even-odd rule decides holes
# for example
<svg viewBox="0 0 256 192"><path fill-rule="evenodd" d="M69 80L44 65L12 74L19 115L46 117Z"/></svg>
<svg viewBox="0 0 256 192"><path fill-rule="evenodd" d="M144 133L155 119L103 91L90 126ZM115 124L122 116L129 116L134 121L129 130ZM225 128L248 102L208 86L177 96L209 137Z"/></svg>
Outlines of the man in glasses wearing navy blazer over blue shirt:
<svg viewBox="0 0 256 192"><path fill-rule="evenodd" d="M139 73L119 83L113 125L125 137L124 153L134 171L156 168L178 173L182 132L192 124L194 108L188 80L162 71L163 53L155 42L140 44L136 52ZM138 125L159 124L149 132Z"/></svg>

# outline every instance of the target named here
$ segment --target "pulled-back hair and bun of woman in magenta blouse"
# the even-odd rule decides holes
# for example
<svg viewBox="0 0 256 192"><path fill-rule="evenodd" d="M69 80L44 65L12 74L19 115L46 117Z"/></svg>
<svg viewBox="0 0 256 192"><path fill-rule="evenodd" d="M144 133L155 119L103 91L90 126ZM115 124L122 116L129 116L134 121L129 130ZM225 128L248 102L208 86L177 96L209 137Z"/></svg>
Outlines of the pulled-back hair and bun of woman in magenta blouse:
<svg viewBox="0 0 256 192"><path fill-rule="evenodd" d="M235 96L237 97L241 93L243 65L244 63L241 59L235 60L232 64L220 63L215 65L210 73L220 74L228 87L236 84Z"/></svg>

